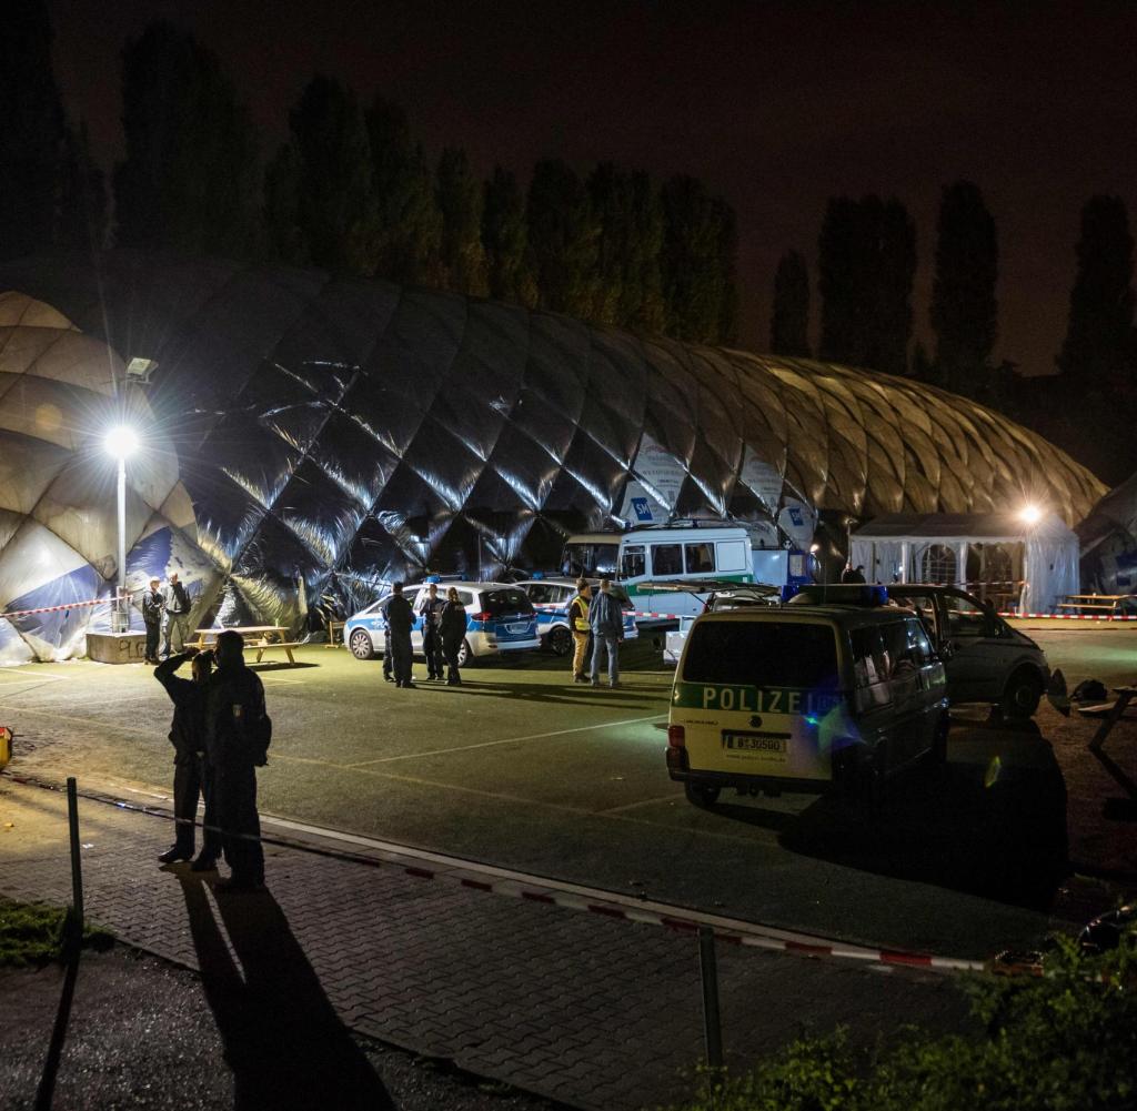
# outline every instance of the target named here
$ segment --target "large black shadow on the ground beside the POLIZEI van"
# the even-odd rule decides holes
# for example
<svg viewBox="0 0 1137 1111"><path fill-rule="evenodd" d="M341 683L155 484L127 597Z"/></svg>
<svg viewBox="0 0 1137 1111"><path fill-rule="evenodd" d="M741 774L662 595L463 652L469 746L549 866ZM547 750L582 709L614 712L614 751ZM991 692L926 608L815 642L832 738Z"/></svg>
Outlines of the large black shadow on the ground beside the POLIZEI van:
<svg viewBox="0 0 1137 1111"><path fill-rule="evenodd" d="M753 804L715 810L777 829L791 852L1045 910L1069 875L1067 790L1034 721L953 724L951 762L889 782L873 808L838 795L799 816Z"/></svg>

